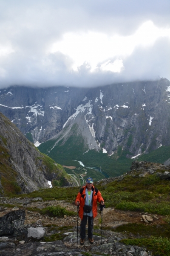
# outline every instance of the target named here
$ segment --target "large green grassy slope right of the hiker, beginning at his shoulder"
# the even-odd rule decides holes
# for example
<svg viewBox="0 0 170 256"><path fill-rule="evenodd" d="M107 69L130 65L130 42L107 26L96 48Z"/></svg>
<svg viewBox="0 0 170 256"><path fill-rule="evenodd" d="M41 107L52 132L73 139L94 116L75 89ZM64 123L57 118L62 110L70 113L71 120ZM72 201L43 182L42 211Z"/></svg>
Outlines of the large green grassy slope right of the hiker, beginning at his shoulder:
<svg viewBox="0 0 170 256"><path fill-rule="evenodd" d="M119 182L113 181L106 186L99 184L98 189L108 207L170 215L170 181L160 180L156 175L127 175Z"/></svg>

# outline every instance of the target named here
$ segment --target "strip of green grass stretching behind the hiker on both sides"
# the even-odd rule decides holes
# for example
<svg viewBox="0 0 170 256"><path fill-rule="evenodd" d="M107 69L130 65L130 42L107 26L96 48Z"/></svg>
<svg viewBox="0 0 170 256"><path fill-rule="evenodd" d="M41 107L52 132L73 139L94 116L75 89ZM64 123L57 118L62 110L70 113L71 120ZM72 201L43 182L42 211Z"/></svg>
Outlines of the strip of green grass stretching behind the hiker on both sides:
<svg viewBox="0 0 170 256"><path fill-rule="evenodd" d="M97 188L102 193L106 207L128 211L170 215L170 181L160 180L156 175L135 177L126 175L121 181L113 181ZM95 183L94 183L95 185ZM34 191L24 197L41 197L45 200L67 200L74 202L79 187L54 187Z"/></svg>

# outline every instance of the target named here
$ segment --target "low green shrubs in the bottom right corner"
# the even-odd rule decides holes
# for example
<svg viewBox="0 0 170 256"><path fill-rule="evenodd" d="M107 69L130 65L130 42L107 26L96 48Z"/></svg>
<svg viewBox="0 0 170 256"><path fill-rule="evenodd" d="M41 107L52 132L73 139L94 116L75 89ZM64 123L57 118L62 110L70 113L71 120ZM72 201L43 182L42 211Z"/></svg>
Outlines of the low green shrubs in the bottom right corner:
<svg viewBox="0 0 170 256"><path fill-rule="evenodd" d="M152 250L155 256L170 256L170 239L150 237L141 239L122 239L125 244L147 247L147 250Z"/></svg>

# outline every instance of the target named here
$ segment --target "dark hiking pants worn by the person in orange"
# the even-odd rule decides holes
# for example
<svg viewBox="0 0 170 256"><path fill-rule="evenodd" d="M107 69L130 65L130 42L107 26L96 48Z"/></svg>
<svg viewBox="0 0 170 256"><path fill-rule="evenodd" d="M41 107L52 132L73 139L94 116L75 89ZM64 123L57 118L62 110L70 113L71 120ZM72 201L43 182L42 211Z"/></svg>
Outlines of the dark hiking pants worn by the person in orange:
<svg viewBox="0 0 170 256"><path fill-rule="evenodd" d="M87 224L87 219L88 219L88 237L93 238L93 216L90 217L88 215L83 215L83 218L80 224L81 239L85 239L85 226Z"/></svg>

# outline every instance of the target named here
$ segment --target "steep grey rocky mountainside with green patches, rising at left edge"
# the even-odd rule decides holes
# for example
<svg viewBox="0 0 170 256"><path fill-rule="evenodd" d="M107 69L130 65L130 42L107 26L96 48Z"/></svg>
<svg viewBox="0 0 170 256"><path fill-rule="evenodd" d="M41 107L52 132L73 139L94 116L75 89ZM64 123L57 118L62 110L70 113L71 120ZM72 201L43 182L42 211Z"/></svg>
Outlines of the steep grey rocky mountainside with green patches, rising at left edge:
<svg viewBox="0 0 170 256"><path fill-rule="evenodd" d="M75 185L59 164L40 151L0 113L0 195L28 193L58 186Z"/></svg>

